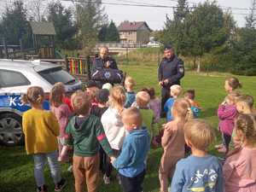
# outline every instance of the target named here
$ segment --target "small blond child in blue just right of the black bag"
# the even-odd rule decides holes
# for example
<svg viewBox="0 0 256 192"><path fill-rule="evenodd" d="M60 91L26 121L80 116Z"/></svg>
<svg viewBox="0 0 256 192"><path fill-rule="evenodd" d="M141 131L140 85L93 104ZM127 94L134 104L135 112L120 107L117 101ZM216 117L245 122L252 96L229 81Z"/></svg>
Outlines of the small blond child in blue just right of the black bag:
<svg viewBox="0 0 256 192"><path fill-rule="evenodd" d="M125 101L125 108L130 108L131 104L135 102L135 96L136 93L133 90L133 87L135 85L135 80L132 79L131 77L126 77L125 78L125 96L126 96L126 101Z"/></svg>

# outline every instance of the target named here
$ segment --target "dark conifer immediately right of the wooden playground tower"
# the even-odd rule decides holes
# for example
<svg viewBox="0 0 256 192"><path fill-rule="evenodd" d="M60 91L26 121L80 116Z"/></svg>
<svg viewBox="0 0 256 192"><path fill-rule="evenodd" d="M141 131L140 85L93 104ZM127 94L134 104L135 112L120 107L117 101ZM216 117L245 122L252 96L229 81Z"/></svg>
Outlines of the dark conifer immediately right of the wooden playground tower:
<svg viewBox="0 0 256 192"><path fill-rule="evenodd" d="M53 22L56 32L56 44L64 49L72 49L73 37L77 32L73 24L73 15L71 9L64 9L58 1L48 5L48 21Z"/></svg>

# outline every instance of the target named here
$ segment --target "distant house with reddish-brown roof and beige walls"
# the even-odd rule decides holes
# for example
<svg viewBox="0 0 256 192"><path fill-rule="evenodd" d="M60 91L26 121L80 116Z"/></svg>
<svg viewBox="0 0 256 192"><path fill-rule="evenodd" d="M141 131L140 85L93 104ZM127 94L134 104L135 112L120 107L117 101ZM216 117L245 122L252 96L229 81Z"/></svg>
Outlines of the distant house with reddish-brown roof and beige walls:
<svg viewBox="0 0 256 192"><path fill-rule="evenodd" d="M125 20L119 25L118 30L121 44L148 44L152 32L145 21Z"/></svg>

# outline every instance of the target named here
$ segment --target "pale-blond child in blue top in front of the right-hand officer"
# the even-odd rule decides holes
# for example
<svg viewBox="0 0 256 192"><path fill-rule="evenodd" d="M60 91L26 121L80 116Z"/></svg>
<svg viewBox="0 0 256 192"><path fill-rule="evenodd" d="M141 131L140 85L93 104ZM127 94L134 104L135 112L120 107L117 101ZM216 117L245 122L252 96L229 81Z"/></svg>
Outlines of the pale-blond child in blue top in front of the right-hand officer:
<svg viewBox="0 0 256 192"><path fill-rule="evenodd" d="M164 105L164 111L166 112L166 121L169 122L172 120L172 106L177 96L179 96L182 92L182 88L178 84L174 84L170 87L170 98L166 101Z"/></svg>

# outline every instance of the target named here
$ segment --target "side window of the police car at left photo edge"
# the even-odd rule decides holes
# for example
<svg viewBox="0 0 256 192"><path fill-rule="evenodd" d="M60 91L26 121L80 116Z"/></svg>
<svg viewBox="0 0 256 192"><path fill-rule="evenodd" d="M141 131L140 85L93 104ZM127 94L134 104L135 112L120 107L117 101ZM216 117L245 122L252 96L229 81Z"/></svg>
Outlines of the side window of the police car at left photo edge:
<svg viewBox="0 0 256 192"><path fill-rule="evenodd" d="M0 87L15 87L29 84L31 84L30 81L19 72L0 70Z"/></svg>

